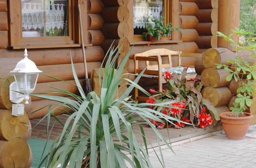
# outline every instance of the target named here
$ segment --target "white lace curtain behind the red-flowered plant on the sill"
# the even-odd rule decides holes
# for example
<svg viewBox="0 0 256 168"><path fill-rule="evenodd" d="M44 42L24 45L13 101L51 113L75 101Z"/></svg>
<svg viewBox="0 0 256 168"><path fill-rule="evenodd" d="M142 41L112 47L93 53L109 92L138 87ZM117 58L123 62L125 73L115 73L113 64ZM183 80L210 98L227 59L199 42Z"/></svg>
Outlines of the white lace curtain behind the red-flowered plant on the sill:
<svg viewBox="0 0 256 168"><path fill-rule="evenodd" d="M135 28L146 28L148 20L152 18L160 19L162 14L162 4L150 7L145 1L134 3L133 7L133 26Z"/></svg>

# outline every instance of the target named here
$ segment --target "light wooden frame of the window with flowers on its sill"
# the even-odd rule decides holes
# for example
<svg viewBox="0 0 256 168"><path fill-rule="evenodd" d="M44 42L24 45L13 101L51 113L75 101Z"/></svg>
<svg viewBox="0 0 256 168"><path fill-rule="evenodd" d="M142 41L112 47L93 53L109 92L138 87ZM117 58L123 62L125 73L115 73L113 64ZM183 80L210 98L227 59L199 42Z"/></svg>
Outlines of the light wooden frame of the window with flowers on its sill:
<svg viewBox="0 0 256 168"><path fill-rule="evenodd" d="M134 1L133 1L134 2ZM179 0L164 0L163 1L163 11L164 11L164 25L167 23L172 23L173 27L178 27L178 9L179 9ZM174 41L178 40L178 34L176 32L172 35L172 40L168 41ZM141 35L134 35L134 29L133 29L133 42L136 41L145 41L141 37Z"/></svg>

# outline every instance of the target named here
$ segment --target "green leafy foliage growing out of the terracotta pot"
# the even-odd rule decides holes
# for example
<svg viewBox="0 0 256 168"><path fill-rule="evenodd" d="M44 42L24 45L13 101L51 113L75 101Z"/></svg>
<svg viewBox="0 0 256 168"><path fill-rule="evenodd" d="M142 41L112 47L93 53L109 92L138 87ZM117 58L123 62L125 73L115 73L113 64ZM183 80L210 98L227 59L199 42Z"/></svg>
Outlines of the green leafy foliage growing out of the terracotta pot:
<svg viewBox="0 0 256 168"><path fill-rule="evenodd" d="M247 35L248 32L245 32L243 29L236 29L232 30L233 33L237 34L238 36ZM236 58L230 59L228 62L233 65L233 67L229 67L227 65L217 64L217 68L224 68L226 71L230 72L231 74L226 77L227 81L232 79L239 81L239 89L237 90L238 98L233 103L233 107L230 109L232 110L233 114L239 116L240 114L244 114L244 110L247 109L245 105L250 107L252 103L252 93L255 92L255 84L250 81L252 77L256 78L256 71L255 65L250 65L247 61L243 60L242 57L239 55L239 50L250 50L254 52L256 50L255 41L245 41L244 43L234 43L231 39L232 34L226 36L221 32L217 32L219 37L223 37L225 40L231 43L232 46L236 46ZM242 53L242 52L241 52ZM251 57L255 57L252 55ZM246 79L243 79L246 78Z"/></svg>

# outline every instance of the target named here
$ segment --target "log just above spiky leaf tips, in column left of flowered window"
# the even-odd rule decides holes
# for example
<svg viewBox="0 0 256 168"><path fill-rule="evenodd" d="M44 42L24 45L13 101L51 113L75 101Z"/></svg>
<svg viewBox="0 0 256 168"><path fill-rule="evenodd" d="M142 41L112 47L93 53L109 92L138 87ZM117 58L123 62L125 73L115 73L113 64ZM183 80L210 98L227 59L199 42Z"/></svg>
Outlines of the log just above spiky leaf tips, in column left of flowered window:
<svg viewBox="0 0 256 168"><path fill-rule="evenodd" d="M101 45L105 52L108 51L108 49L111 46L111 44L113 43L113 41L114 41L115 47L118 46L119 49L121 48L121 50L120 50L121 54L123 54L123 53L126 54L129 51L130 43L126 37L123 37L120 39L105 39L105 41Z"/></svg>

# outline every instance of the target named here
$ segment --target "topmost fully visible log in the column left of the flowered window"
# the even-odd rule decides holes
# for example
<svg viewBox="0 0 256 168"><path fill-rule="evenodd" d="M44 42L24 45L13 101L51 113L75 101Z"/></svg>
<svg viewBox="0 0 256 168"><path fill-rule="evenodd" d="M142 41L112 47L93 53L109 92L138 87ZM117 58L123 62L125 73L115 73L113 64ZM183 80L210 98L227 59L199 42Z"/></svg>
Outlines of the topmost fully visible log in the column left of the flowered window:
<svg viewBox="0 0 256 168"><path fill-rule="evenodd" d="M105 22L121 22L129 19L129 9L125 5L105 7L101 16Z"/></svg>

